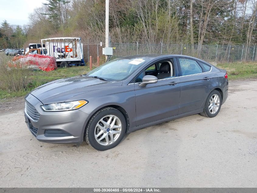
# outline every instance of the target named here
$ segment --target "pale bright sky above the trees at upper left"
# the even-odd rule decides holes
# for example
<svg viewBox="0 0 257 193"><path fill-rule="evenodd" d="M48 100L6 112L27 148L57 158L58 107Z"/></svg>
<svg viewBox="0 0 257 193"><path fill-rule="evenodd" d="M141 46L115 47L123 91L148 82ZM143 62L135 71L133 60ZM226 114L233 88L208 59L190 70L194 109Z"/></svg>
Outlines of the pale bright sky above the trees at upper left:
<svg viewBox="0 0 257 193"><path fill-rule="evenodd" d="M29 23L29 14L46 0L0 0L0 23L7 20L14 25Z"/></svg>

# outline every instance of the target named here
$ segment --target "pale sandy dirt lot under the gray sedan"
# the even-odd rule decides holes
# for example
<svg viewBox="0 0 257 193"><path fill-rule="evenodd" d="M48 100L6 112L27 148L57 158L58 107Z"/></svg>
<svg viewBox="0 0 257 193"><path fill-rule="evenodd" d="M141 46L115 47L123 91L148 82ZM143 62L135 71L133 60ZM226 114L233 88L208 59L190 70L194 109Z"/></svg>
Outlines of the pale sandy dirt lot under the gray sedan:
<svg viewBox="0 0 257 193"><path fill-rule="evenodd" d="M105 152L39 142L23 100L1 103L0 187L257 187L256 94L256 80L231 81L216 117L138 130Z"/></svg>

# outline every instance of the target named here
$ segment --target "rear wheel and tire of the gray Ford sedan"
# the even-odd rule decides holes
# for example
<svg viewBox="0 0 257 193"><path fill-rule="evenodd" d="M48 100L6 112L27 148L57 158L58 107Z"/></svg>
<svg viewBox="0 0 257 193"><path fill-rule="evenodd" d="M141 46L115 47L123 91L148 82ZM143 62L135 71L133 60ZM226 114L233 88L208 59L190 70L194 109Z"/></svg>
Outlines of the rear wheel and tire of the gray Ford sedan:
<svg viewBox="0 0 257 193"><path fill-rule="evenodd" d="M217 102L215 102L216 98L214 99L214 96L215 97L218 96ZM211 105L211 101L213 101L213 105ZM218 107L217 107L217 104L219 104ZM200 115L210 117L210 118L215 117L220 112L221 104L222 104L221 93L217 90L211 91L210 95L206 99L203 112L200 113ZM210 106L210 110L209 110L209 106Z"/></svg>

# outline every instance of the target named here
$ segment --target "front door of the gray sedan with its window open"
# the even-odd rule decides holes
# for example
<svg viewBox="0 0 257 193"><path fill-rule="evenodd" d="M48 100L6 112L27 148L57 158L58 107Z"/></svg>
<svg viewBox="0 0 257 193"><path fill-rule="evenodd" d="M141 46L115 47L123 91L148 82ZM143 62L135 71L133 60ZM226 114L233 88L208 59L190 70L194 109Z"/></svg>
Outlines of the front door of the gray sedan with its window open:
<svg viewBox="0 0 257 193"><path fill-rule="evenodd" d="M175 65L173 62L172 65L173 72L170 77L158 80L157 83L147 84L145 87L139 86L139 80L148 73L143 71L135 77L137 126L165 119L179 113L180 81L176 61Z"/></svg>

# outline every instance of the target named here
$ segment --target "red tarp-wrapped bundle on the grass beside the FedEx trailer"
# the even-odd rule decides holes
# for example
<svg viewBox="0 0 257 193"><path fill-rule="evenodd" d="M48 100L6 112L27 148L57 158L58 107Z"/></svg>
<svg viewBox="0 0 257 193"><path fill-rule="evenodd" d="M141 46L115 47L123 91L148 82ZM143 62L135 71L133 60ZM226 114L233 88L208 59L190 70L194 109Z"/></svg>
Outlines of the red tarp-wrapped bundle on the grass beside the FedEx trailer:
<svg viewBox="0 0 257 193"><path fill-rule="evenodd" d="M19 63L22 67L28 68L39 68L43 71L51 71L57 69L56 59L52 56L40 55L40 54L29 54L15 56L12 61Z"/></svg>

